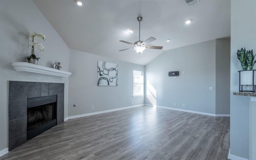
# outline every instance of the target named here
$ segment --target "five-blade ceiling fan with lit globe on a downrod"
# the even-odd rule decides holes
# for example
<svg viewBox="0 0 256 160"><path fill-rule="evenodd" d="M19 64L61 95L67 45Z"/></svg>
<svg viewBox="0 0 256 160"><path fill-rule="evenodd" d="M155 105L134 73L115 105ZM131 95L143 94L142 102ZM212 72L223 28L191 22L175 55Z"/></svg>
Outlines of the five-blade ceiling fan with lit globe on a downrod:
<svg viewBox="0 0 256 160"><path fill-rule="evenodd" d="M143 51L146 49L146 48L151 48L151 49L158 49L158 50L161 50L163 47L162 46L147 46L146 44L156 40L156 38L154 37L150 37L148 38L147 40L145 40L144 42L140 40L140 22L142 21L142 17L138 17L137 18L138 22L139 22L139 40L134 42L133 43L130 43L130 42L126 42L124 40L120 40L120 42L124 42L124 43L127 43L127 44L132 44L133 47L132 48L126 48L124 50L129 50L129 49L134 49L138 54L142 54ZM124 50L119 50L119 51L124 51Z"/></svg>

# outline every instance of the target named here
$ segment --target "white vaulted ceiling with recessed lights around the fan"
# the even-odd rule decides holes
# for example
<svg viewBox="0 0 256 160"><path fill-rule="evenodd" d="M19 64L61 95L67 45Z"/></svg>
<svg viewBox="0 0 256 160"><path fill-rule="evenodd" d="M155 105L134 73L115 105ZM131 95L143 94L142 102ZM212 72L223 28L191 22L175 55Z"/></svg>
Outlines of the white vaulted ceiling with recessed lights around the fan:
<svg viewBox="0 0 256 160"><path fill-rule="evenodd" d="M187 7L183 0L34 0L69 48L146 65L165 50L230 36L230 0L200 0ZM142 16L141 40L156 38L140 56L124 40L138 40L137 17ZM190 25L184 22L192 19ZM134 29L134 33L128 33ZM170 39L170 42L166 42Z"/></svg>

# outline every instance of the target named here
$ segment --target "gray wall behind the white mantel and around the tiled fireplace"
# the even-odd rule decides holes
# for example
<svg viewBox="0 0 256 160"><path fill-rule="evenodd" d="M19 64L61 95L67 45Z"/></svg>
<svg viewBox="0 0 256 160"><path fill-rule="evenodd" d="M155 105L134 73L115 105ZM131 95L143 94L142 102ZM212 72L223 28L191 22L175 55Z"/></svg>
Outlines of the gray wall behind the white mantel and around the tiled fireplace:
<svg viewBox="0 0 256 160"><path fill-rule="evenodd" d="M35 51L41 59L38 65L52 67L54 62L62 62L62 69L68 71L69 49L52 28L32 0L0 0L0 151L8 147L8 86L9 81L64 83L64 116L68 116L68 78L29 72L16 72L11 62L26 62L31 54L28 36L32 32L42 32L46 40L45 50Z"/></svg>

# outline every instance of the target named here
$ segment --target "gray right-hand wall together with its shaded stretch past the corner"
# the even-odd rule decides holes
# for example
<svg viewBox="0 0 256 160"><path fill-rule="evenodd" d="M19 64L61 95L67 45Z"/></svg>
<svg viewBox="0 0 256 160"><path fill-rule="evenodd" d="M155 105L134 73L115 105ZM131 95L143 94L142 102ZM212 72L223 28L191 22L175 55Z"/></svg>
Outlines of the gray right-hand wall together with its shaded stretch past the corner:
<svg viewBox="0 0 256 160"><path fill-rule="evenodd" d="M146 66L145 104L229 115L229 53L229 38L165 51ZM169 71L179 71L180 75L168 77Z"/></svg>

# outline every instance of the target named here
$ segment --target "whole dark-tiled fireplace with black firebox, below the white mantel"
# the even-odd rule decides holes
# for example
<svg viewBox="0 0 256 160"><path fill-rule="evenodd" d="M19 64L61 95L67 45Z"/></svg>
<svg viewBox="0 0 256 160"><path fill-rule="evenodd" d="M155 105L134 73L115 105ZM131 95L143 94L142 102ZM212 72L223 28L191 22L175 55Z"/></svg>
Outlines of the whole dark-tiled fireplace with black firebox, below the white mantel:
<svg viewBox="0 0 256 160"><path fill-rule="evenodd" d="M64 122L64 84L10 81L8 114L10 151Z"/></svg>

